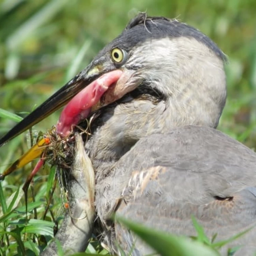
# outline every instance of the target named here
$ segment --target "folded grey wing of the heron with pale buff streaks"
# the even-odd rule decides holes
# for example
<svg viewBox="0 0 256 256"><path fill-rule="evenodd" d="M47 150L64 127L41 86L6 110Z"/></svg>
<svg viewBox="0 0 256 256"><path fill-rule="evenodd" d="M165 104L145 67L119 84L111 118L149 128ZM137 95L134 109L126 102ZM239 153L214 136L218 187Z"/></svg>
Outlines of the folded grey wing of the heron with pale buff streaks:
<svg viewBox="0 0 256 256"><path fill-rule="evenodd" d="M122 191L116 191L122 200L116 212L188 236L195 235L193 214L208 236L218 233L218 240L228 239L256 224L255 167L253 151L214 129L183 127L154 134L139 141L115 167L113 177L127 179ZM131 234L115 228L121 243L128 237L133 242ZM241 250L249 252L255 250L255 239L256 231L251 231L234 244L246 244ZM142 255L149 252L138 246L140 252L146 250Z"/></svg>

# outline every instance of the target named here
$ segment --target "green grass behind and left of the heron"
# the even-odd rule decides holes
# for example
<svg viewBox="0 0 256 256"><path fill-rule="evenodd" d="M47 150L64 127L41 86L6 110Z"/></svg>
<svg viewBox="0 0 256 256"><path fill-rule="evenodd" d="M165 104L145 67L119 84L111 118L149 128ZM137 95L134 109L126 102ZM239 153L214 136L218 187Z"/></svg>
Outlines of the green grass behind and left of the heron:
<svg viewBox="0 0 256 256"><path fill-rule="evenodd" d="M227 54L228 99L218 129L256 148L253 0L0 1L0 136L84 68L138 11L195 26ZM58 114L35 126L34 137L37 131L51 128ZM0 148L0 173L27 150L27 138L23 134ZM48 221L63 214L57 211L61 200L55 193L51 205L54 215L46 214L48 224L42 220L54 179L54 170L48 167L34 179L26 213L20 187L30 170L27 166L0 183L2 255L6 255L6 248L9 255L22 255L24 250L38 255L53 235L54 224ZM37 219L33 219L35 215ZM88 252L99 253L100 249L91 243Z"/></svg>

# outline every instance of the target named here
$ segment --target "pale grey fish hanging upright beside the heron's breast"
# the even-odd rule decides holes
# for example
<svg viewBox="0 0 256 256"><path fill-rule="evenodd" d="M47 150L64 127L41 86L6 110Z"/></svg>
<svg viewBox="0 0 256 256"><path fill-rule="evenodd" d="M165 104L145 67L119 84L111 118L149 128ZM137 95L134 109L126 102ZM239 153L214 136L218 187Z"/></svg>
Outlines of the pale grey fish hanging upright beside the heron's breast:
<svg viewBox="0 0 256 256"><path fill-rule="evenodd" d="M81 132L75 132L75 155L68 173L68 211L54 239L41 253L42 256L58 255L56 240L67 253L84 252L93 232L95 219L95 176ZM58 167L57 167L58 168Z"/></svg>

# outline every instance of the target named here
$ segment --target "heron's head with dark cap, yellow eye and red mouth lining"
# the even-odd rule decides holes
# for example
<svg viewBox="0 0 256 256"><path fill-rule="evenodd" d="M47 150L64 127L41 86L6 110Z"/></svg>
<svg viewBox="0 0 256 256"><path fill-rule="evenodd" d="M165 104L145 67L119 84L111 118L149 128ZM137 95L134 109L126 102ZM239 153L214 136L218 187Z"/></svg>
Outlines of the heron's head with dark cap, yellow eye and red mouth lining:
<svg viewBox="0 0 256 256"><path fill-rule="evenodd" d="M1 138L0 145L67 103L57 123L61 136L91 112L143 95L149 101L159 98L177 125L216 127L226 100L224 61L221 50L200 31L141 13L85 69Z"/></svg>

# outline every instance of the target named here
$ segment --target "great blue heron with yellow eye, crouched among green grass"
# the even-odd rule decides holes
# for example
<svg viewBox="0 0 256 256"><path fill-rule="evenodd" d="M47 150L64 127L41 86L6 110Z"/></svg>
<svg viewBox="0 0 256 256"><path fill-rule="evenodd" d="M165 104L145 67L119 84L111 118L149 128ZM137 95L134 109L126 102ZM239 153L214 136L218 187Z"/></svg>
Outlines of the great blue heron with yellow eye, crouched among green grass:
<svg viewBox="0 0 256 256"><path fill-rule="evenodd" d="M73 96L57 124L67 136L91 113L85 150L95 171L95 207L111 252L151 252L113 212L174 234L227 239L255 225L256 154L215 130L226 101L225 55L177 20L139 14L96 58L14 127L0 144ZM85 88L85 89L83 89ZM77 94L79 91L82 93ZM235 240L256 250L255 230ZM223 252L226 248L223 249Z"/></svg>

